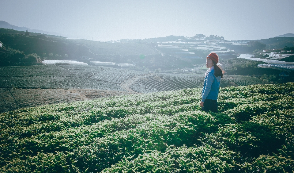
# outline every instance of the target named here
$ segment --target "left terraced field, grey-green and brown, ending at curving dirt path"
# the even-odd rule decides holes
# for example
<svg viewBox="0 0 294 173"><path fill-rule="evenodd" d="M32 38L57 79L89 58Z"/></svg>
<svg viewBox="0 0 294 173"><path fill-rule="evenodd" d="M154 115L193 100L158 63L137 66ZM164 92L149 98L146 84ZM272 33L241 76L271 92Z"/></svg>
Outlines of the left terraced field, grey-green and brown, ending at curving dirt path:
<svg viewBox="0 0 294 173"><path fill-rule="evenodd" d="M0 112L134 94L120 84L135 75L144 74L134 70L89 65L0 67Z"/></svg>

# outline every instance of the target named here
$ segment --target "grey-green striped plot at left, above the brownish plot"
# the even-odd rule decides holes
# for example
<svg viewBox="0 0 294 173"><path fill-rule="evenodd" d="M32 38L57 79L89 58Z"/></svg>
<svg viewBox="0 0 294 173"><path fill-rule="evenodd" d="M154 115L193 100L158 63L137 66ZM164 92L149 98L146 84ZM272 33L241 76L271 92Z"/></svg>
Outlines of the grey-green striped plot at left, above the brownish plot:
<svg viewBox="0 0 294 173"><path fill-rule="evenodd" d="M137 71L79 65L1 67L0 87L77 88L123 91L118 85ZM107 74L101 76L101 74ZM142 73L144 74L144 73ZM93 76L99 76L94 77Z"/></svg>

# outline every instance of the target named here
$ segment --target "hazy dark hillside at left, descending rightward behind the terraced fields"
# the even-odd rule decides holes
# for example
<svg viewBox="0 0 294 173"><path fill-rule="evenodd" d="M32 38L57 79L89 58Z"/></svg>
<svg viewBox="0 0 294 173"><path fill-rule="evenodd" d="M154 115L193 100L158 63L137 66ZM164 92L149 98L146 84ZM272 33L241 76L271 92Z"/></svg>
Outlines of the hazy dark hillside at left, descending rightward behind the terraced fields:
<svg viewBox="0 0 294 173"><path fill-rule="evenodd" d="M80 56L100 58L100 56L128 56L159 54L152 44L114 44L90 40L73 40L64 37L46 37L45 35L25 36L6 34L0 28L0 41L4 46L20 50L25 54L36 53L50 59L78 59ZM49 56L52 53L54 56ZM58 54L58 56L55 56ZM111 57L110 57L111 58Z"/></svg>

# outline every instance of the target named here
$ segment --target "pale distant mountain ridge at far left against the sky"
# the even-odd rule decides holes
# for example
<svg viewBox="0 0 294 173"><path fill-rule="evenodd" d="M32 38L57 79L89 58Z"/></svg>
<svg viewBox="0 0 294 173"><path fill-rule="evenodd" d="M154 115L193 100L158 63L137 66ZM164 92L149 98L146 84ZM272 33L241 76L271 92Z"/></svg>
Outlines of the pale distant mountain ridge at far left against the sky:
<svg viewBox="0 0 294 173"><path fill-rule="evenodd" d="M25 26L19 27L19 26L11 25L10 23L8 23L6 21L0 21L0 28L14 29L17 31L28 30L28 32L32 32L32 33L42 33L42 34L49 33L50 35L58 35L58 36L66 37L66 34L61 34L61 33L56 33L56 32L48 32L48 31L43 31L43 30L39 30L39 29L29 29L28 27L25 27ZM68 37L70 37L70 36L68 36Z"/></svg>

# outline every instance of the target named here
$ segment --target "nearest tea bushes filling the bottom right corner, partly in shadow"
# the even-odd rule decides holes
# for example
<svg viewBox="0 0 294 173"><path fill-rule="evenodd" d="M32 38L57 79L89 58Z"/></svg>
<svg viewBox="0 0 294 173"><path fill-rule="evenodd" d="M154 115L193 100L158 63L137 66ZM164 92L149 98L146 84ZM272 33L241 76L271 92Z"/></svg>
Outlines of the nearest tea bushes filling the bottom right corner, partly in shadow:
<svg viewBox="0 0 294 173"><path fill-rule="evenodd" d="M244 124L221 126L217 133L203 137L200 147L184 145L124 157L102 172L291 172L294 112L274 111L252 118ZM268 155L271 152L273 156Z"/></svg>

